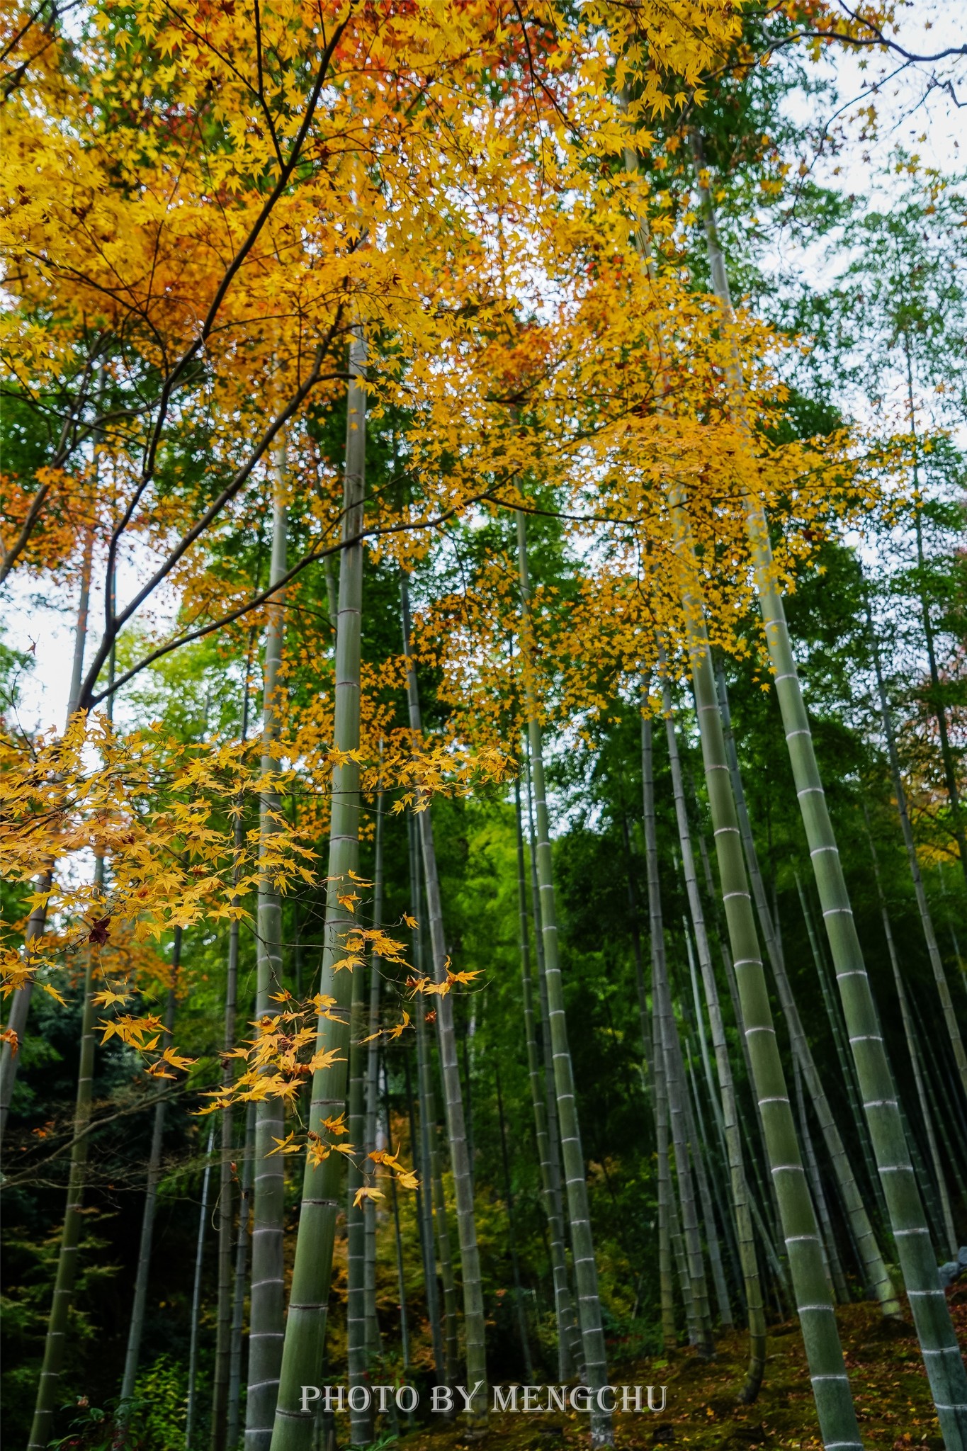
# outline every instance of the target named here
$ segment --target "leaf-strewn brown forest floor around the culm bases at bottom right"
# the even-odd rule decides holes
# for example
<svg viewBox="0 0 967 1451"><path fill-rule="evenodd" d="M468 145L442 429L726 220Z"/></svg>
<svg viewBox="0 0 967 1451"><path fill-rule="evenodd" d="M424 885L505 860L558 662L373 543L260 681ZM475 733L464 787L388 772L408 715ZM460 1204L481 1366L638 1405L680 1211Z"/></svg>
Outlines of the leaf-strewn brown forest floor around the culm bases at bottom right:
<svg viewBox="0 0 967 1451"><path fill-rule="evenodd" d="M967 1344L967 1284L950 1291L960 1344ZM942 1451L924 1362L906 1315L887 1325L874 1304L838 1312L847 1368L867 1451ZM618 1415L618 1447L692 1447L696 1451L819 1451L822 1442L797 1325L770 1328L765 1378L752 1406L738 1406L735 1392L745 1368L744 1336L723 1336L712 1364L694 1355L644 1360L612 1371L615 1383L667 1386L661 1413ZM655 1399L661 1399L660 1392ZM547 1394L541 1397L547 1403ZM465 1426L439 1422L403 1436L404 1451L462 1451ZM567 1415L491 1415L473 1451L557 1451L587 1445L587 1418Z"/></svg>

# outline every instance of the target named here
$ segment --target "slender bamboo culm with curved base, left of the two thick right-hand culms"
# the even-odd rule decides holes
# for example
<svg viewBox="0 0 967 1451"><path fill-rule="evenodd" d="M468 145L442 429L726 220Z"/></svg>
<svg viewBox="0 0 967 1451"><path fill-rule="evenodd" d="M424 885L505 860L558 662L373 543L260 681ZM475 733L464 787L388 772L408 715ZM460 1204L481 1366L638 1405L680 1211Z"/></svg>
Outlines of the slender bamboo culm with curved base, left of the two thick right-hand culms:
<svg viewBox="0 0 967 1451"><path fill-rule="evenodd" d="M694 872L694 855L692 852L692 829L681 781L681 759L678 756L678 736L674 715L671 712L671 689L664 669L664 651L661 651L660 666L663 667L661 704L665 717L665 739L668 741L668 760L671 765L671 791L676 804L676 821L678 826L678 847L681 850L681 869L689 898L689 911L694 932L696 955L702 972L705 1003L709 1011L709 1026L712 1029L712 1051L719 1080L719 1098L712 1097L713 1109L721 1114L722 1132L729 1165L729 1184L732 1190L732 1214L735 1219L735 1238L738 1241L739 1264L742 1267L742 1284L745 1287L745 1304L748 1313L748 1370L745 1383L739 1392L739 1400L751 1405L758 1396L765 1370L765 1312L763 1307L763 1287L758 1277L758 1262L755 1258L755 1241L752 1236L752 1216L750 1210L748 1185L745 1183L745 1164L742 1158L742 1138L739 1133L738 1104L735 1098L735 1082L732 1080L732 1065L725 1039L725 1023L722 1022L722 1007L719 991L712 968L712 952L705 927L705 911L699 894L699 882ZM696 1010L700 1007L696 1006ZM702 1042L705 1043L705 1029L699 1020Z"/></svg>

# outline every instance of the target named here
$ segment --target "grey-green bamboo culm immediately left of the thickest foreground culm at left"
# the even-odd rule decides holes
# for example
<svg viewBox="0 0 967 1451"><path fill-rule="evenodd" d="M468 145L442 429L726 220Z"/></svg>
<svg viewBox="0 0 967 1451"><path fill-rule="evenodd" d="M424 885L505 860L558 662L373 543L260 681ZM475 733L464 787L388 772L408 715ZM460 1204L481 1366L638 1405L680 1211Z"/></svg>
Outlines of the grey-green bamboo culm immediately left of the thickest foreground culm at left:
<svg viewBox="0 0 967 1451"><path fill-rule="evenodd" d="M286 444L275 448L275 489L273 505L273 554L270 583L286 573ZM260 882L255 1017L274 1011L273 994L283 990L283 907L271 875L273 836L278 830L281 800L273 789L278 775L277 741L280 731L280 666L286 614L274 596L265 627L265 663L262 667L262 779L260 798ZM286 1177L281 1154L273 1154L286 1136L281 1098L264 1098L255 1106L255 1165L252 1193L252 1284L248 1331L248 1396L245 1400L245 1451L268 1451L273 1416L278 1394L283 1354L286 1294L283 1283L283 1219L286 1213Z"/></svg>

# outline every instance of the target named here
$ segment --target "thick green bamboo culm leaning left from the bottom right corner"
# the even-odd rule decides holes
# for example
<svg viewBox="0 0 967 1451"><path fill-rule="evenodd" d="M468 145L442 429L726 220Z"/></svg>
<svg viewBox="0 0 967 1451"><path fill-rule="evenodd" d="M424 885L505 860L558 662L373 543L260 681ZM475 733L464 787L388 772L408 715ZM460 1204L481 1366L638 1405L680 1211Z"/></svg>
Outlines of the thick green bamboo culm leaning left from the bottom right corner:
<svg viewBox="0 0 967 1451"><path fill-rule="evenodd" d="M725 257L718 239L712 197L705 186L697 136L694 136L694 160L700 177L713 286L728 322L732 315L732 302L725 273ZM732 363L729 389L734 414L739 421L744 421L742 374L738 357ZM796 795L806 829L847 1033L857 1065L863 1109L870 1126L873 1154L887 1203L903 1284L913 1313L944 1444L947 1451L967 1451L967 1368L960 1354L947 1297L939 1284L924 1201L910 1162L900 1104L829 820L809 715L789 640L786 609L776 588L765 511L761 501L751 493L745 496L745 508L763 627L793 768Z"/></svg>

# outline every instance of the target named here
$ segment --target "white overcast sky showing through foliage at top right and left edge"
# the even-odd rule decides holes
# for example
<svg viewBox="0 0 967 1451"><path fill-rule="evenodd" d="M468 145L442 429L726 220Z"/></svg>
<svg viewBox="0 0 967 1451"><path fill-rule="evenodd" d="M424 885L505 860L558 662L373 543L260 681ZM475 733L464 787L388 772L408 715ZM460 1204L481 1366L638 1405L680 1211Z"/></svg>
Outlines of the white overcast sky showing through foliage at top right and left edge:
<svg viewBox="0 0 967 1451"><path fill-rule="evenodd" d="M912 0L899 10L895 35L899 44L912 52L935 54L945 46L963 45L966 28L966 13L950 0L939 3ZM838 119L848 126L851 141L839 155L823 155L816 161L813 171L816 181L857 196L870 194L873 205L883 207L886 202L883 190L871 194L871 187L884 187L881 173L890 152L897 147L918 152L925 165L938 167L945 173L957 173L964 167L967 147L961 141L967 133L964 129L967 109L958 110L954 97L942 86L935 86L932 90L929 86L931 77L950 81L954 96L967 107L967 64L963 59L960 64L951 59L916 64L906 67L900 74L892 74L902 61L867 55L864 67L861 57L837 51L822 65L835 81L838 102L828 106L823 103L821 119L829 119L826 110L832 113L844 107ZM958 74L960 83L955 78ZM864 96L874 81L880 83L877 94ZM850 123L850 116L858 104L868 104L870 100L880 113L880 131L874 144L863 145L855 139L857 128ZM805 106L802 100L793 100L790 104L793 113L797 104ZM815 123L818 118L813 115L809 119ZM822 252L810 251L803 257L803 266L816 268L815 276L819 277L823 268ZM123 602L136 582L136 567L132 564L122 567L119 602ZM99 588L96 583L91 598L93 628L103 611L101 589L103 586ZM32 650L35 657L33 670L22 682L19 717L25 728L41 726L59 730L64 726L74 651L75 608L74 599L52 599L35 585L28 585L16 576L0 598L3 638L19 650Z"/></svg>

